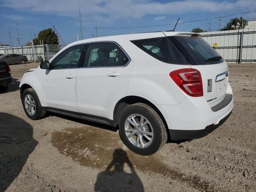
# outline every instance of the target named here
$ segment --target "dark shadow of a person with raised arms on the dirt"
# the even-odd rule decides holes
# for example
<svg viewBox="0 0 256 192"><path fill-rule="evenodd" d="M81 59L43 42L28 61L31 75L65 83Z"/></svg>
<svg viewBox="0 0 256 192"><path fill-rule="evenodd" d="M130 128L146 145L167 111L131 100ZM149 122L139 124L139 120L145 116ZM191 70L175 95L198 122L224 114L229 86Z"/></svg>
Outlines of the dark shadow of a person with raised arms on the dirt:
<svg viewBox="0 0 256 192"><path fill-rule="evenodd" d="M94 190L96 192L143 192L144 187L127 153L122 149L116 149L112 162L104 172L98 174Z"/></svg>

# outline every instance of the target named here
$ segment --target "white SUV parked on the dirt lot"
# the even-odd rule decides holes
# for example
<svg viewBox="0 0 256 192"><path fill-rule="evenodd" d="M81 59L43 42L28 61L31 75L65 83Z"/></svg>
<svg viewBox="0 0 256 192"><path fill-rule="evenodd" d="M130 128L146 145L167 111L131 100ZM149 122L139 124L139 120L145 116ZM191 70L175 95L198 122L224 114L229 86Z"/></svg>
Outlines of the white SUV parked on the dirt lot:
<svg viewBox="0 0 256 192"><path fill-rule="evenodd" d="M149 155L194 139L228 118L228 66L199 34L152 32L74 42L20 82L27 116L47 111L119 126L124 144Z"/></svg>

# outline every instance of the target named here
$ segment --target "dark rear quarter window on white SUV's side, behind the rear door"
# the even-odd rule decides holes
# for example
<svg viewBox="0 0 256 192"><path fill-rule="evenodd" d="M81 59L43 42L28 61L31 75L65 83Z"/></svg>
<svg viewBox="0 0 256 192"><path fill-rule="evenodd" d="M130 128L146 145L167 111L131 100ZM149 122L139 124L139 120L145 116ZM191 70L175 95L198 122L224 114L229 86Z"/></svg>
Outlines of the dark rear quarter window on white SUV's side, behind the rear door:
<svg viewBox="0 0 256 192"><path fill-rule="evenodd" d="M166 37L131 41L150 56L170 64L188 64L184 56Z"/></svg>

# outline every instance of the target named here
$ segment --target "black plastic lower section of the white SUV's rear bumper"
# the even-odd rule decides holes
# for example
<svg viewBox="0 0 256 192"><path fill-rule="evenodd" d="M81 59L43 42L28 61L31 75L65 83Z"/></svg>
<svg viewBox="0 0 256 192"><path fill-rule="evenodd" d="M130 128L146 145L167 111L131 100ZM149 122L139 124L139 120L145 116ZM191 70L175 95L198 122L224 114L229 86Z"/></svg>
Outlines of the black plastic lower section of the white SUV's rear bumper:
<svg viewBox="0 0 256 192"><path fill-rule="evenodd" d="M224 117L220 122L216 125L212 125L210 127L207 127L205 129L201 130L174 130L169 129L170 132L170 138L171 140L191 140L191 139L198 139L202 138L212 131L214 131L216 128L218 128L220 125L222 125L230 116L231 112Z"/></svg>

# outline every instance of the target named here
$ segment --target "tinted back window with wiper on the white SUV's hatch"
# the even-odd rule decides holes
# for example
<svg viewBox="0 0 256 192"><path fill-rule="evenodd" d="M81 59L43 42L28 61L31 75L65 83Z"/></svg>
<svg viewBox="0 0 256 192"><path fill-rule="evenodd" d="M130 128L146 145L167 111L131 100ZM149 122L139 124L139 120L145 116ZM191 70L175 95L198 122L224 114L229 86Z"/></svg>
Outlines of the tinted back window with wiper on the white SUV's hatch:
<svg viewBox="0 0 256 192"><path fill-rule="evenodd" d="M184 54L192 61L191 64L206 65L223 62L218 52L200 37L170 36L168 39L177 44L178 48L182 48ZM208 61L210 58L215 59Z"/></svg>

